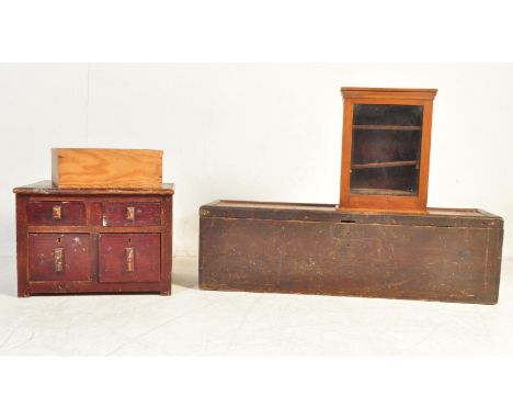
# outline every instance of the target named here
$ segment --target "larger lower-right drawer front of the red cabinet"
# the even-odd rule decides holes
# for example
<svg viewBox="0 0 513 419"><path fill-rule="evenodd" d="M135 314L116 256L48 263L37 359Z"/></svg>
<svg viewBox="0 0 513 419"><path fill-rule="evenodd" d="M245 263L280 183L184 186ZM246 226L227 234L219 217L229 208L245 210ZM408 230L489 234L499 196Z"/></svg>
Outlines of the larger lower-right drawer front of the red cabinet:
<svg viewBox="0 0 513 419"><path fill-rule="evenodd" d="M99 237L100 282L159 282L159 234L104 234Z"/></svg>

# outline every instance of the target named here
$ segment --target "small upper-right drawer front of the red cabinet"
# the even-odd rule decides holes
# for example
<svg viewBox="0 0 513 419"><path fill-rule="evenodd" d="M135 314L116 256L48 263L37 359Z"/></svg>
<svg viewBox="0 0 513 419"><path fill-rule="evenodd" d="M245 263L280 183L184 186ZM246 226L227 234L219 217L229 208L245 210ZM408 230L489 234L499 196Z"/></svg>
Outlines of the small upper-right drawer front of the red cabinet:
<svg viewBox="0 0 513 419"><path fill-rule="evenodd" d="M103 204L104 227L160 226L158 202L106 202Z"/></svg>

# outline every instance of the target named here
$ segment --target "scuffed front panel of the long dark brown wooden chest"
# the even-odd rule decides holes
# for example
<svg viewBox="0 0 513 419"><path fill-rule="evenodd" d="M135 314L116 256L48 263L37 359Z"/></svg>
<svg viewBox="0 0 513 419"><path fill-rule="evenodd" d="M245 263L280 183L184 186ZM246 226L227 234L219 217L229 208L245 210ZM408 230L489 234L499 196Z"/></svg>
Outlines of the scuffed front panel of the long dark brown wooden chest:
<svg viewBox="0 0 513 419"><path fill-rule="evenodd" d="M494 304L489 231L202 217L200 286Z"/></svg>

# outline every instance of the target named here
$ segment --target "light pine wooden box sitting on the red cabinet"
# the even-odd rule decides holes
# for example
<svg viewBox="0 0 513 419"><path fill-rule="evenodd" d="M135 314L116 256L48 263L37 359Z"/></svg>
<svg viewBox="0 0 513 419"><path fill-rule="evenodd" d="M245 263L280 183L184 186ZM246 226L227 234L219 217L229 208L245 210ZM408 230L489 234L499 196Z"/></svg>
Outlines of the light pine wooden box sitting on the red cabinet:
<svg viewBox="0 0 513 419"><path fill-rule="evenodd" d="M52 182L68 189L145 189L162 185L162 151L53 148Z"/></svg>

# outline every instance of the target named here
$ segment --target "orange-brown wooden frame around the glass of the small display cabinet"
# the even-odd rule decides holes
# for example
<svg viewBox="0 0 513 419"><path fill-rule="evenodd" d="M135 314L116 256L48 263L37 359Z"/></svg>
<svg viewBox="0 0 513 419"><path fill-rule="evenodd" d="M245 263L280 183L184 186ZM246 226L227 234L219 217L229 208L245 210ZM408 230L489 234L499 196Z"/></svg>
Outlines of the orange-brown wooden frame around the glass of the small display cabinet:
<svg viewBox="0 0 513 419"><path fill-rule="evenodd" d="M436 89L375 89L375 88L342 88L341 89L344 106L343 106L343 129L342 129L342 165L341 165L341 181L340 181L340 203L339 208L342 211L396 211L421 213L426 210L428 204L428 183L430 168L430 148L431 148L431 123L433 114L433 100L436 95ZM353 125L353 105L355 104L380 104L380 105L421 105L423 106L422 128L421 128L421 149L419 165L419 181L417 193L394 194L372 194L373 189L385 188L395 190L402 186L402 179L399 177L395 182L397 184L374 184L369 188L368 194L351 193L351 173L354 169L377 168L377 166L355 165L352 162L353 148L353 128L364 129L384 129L391 133L392 129L398 129L397 126L379 126L372 127L371 125ZM404 126L407 129L418 129L415 126ZM390 143L391 144L391 143ZM366 150L368 151L368 150ZM411 161L411 159L407 159ZM381 163L383 165L383 163ZM366 167L364 167L366 166ZM397 167L394 165L391 167ZM379 166L381 168L386 166ZM398 173L403 175L402 173ZM384 182L394 182L385 178Z"/></svg>

